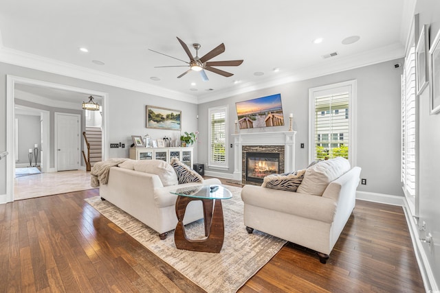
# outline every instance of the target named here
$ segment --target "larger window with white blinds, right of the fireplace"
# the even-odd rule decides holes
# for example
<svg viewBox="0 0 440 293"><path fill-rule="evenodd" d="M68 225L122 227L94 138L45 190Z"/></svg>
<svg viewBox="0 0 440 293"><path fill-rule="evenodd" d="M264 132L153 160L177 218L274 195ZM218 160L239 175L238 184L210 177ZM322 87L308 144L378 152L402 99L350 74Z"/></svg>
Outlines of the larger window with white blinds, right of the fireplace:
<svg viewBox="0 0 440 293"><path fill-rule="evenodd" d="M342 156L353 162L351 135L355 80L309 90L310 161Z"/></svg>

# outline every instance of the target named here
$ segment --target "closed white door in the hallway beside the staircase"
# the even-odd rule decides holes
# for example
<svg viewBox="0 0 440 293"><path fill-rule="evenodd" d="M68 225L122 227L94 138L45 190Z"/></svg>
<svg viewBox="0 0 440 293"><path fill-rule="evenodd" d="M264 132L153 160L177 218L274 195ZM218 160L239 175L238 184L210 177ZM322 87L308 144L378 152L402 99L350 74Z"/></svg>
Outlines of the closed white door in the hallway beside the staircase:
<svg viewBox="0 0 440 293"><path fill-rule="evenodd" d="M57 170L77 170L80 166L80 116L55 113L55 119Z"/></svg>

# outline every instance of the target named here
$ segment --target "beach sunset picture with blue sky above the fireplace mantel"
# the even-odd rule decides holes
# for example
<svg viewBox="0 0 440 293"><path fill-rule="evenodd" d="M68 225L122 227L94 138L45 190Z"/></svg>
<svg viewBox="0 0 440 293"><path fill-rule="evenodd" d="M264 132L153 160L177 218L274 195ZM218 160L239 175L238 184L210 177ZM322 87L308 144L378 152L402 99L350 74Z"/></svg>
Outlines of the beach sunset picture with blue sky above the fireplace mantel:
<svg viewBox="0 0 440 293"><path fill-rule="evenodd" d="M236 102L235 106L240 129L284 125L280 93Z"/></svg>

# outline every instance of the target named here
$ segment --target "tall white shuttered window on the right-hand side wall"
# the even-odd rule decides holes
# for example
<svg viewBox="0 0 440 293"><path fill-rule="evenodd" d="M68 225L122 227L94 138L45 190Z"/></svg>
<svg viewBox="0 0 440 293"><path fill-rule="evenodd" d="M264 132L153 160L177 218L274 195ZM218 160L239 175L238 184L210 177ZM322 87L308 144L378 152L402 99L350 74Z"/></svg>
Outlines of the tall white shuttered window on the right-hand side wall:
<svg viewBox="0 0 440 293"><path fill-rule="evenodd" d="M405 58L401 75L401 181L408 197L416 194L416 93L415 93L415 47ZM410 202L414 202L410 198Z"/></svg>

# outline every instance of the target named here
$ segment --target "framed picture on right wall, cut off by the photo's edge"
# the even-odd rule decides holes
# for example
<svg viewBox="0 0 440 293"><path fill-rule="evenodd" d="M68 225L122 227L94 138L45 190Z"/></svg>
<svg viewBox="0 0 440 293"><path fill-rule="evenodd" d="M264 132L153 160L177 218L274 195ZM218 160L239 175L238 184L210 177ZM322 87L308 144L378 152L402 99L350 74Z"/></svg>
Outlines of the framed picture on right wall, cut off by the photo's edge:
<svg viewBox="0 0 440 293"><path fill-rule="evenodd" d="M430 65L430 113L437 114L440 111L440 31L434 38L429 51Z"/></svg>

